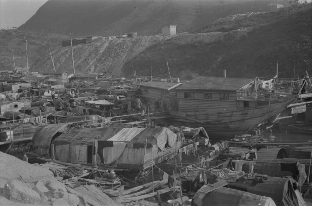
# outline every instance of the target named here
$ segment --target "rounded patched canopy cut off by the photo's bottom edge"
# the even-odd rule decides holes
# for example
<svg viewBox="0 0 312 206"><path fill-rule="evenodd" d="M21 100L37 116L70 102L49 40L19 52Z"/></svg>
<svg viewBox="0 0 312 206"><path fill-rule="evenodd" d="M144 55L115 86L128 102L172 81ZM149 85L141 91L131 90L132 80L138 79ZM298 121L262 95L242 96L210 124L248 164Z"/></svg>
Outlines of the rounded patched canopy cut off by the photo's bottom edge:
<svg viewBox="0 0 312 206"><path fill-rule="evenodd" d="M193 206L276 206L270 197L221 187L208 193L197 192Z"/></svg>

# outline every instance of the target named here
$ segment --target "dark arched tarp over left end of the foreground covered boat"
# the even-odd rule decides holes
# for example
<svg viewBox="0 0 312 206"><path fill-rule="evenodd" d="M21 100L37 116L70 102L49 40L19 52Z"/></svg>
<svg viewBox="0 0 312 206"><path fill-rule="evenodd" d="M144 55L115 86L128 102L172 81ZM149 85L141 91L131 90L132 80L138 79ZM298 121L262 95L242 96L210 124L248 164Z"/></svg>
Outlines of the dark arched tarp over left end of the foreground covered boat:
<svg viewBox="0 0 312 206"><path fill-rule="evenodd" d="M40 127L32 137L34 147L47 147L56 133L63 133L71 128L72 124L45 125Z"/></svg>

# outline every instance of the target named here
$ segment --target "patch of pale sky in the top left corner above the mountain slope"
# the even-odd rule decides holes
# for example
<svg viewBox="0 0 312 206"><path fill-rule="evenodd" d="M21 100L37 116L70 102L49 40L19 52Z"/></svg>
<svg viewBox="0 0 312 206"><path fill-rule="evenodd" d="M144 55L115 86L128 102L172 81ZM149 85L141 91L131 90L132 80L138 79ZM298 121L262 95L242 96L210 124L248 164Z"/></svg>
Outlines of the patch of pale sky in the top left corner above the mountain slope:
<svg viewBox="0 0 312 206"><path fill-rule="evenodd" d="M0 28L19 27L48 0L0 0Z"/></svg>

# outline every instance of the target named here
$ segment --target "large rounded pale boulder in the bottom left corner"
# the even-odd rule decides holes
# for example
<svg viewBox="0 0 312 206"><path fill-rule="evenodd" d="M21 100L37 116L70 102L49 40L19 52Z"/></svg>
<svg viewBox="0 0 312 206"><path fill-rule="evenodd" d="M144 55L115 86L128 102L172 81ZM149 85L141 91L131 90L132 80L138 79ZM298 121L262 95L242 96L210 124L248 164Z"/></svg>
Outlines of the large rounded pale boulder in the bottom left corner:
<svg viewBox="0 0 312 206"><path fill-rule="evenodd" d="M41 200L40 195L36 191L17 179L10 180L5 184L3 195L11 201L26 204L34 204Z"/></svg>

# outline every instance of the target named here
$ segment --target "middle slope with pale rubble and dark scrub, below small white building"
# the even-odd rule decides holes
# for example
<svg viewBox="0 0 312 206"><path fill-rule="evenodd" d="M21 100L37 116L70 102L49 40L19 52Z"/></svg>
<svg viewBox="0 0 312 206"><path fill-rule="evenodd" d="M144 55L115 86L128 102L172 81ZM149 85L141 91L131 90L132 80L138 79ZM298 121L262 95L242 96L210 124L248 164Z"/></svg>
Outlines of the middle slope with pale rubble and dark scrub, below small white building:
<svg viewBox="0 0 312 206"><path fill-rule="evenodd" d="M249 14L248 14L249 15ZM140 36L74 46L77 72L116 76L168 74L191 79L197 75L291 78L310 71L312 56L311 4L296 9L220 19L201 32L175 36ZM232 20L232 21L231 21ZM252 25L250 25L252 24ZM247 27L245 26L247 25ZM222 32L224 29L227 32ZM71 71L70 47L52 52L57 70ZM153 60L152 60L153 58ZM52 69L46 56L32 70Z"/></svg>

